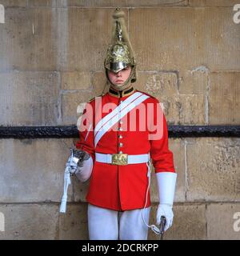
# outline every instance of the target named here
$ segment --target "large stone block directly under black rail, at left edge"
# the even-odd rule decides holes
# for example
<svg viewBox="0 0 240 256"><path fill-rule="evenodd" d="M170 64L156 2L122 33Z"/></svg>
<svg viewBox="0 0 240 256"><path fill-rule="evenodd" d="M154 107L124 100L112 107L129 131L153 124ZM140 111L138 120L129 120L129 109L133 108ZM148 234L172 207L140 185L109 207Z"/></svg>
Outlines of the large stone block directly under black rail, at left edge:
<svg viewBox="0 0 240 256"><path fill-rule="evenodd" d="M60 202L71 143L62 138L0 140L0 202Z"/></svg>

